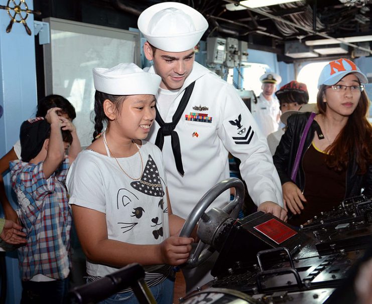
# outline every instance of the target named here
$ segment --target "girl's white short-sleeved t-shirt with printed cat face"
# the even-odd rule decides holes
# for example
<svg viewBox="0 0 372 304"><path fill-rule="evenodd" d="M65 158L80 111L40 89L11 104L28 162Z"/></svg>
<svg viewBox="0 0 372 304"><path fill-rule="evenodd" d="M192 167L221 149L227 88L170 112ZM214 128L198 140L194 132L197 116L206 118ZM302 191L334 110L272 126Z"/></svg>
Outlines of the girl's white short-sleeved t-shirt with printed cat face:
<svg viewBox="0 0 372 304"><path fill-rule="evenodd" d="M67 175L69 204L93 209L106 215L109 239L132 244L160 244L169 237L166 180L160 149L142 141L141 180L131 177L141 172L140 154L128 158L109 158L83 150ZM125 254L125 252L123 252ZM87 273L105 276L118 268L87 260Z"/></svg>

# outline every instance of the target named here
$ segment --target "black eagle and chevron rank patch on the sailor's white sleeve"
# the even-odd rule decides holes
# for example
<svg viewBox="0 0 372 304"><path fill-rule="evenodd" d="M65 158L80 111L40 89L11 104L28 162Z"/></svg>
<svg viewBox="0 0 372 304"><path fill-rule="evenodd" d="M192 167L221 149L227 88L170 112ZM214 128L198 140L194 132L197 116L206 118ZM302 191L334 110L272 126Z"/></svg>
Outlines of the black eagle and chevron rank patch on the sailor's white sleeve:
<svg viewBox="0 0 372 304"><path fill-rule="evenodd" d="M255 131L251 125L245 125L244 116L241 114L224 121L224 127L235 144L250 144Z"/></svg>

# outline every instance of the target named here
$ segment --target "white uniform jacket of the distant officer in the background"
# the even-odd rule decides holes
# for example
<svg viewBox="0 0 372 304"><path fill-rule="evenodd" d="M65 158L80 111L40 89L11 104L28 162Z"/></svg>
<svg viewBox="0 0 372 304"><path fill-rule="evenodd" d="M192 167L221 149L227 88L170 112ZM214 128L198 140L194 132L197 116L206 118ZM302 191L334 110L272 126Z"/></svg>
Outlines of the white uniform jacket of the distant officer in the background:
<svg viewBox="0 0 372 304"><path fill-rule="evenodd" d="M269 101L261 93L260 96L257 97L257 103L253 102L251 104L251 111L260 130L265 136L279 129L279 122L277 119L280 114L280 105L275 95L273 95L272 100Z"/></svg>

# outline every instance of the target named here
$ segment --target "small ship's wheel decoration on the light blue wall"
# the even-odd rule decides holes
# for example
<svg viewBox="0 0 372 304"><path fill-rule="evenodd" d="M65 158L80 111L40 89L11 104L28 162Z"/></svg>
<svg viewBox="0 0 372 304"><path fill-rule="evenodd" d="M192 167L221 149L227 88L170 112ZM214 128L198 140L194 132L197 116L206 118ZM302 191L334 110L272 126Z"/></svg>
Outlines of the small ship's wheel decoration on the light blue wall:
<svg viewBox="0 0 372 304"><path fill-rule="evenodd" d="M11 18L11 22L7 27L7 33L12 31L14 23L22 23L25 26L27 34L31 36L31 30L26 23L26 19L29 17L29 14L41 15L41 12L29 10L25 0L20 0L18 4L16 4L15 0L8 0L7 6L0 6L0 9L7 10Z"/></svg>

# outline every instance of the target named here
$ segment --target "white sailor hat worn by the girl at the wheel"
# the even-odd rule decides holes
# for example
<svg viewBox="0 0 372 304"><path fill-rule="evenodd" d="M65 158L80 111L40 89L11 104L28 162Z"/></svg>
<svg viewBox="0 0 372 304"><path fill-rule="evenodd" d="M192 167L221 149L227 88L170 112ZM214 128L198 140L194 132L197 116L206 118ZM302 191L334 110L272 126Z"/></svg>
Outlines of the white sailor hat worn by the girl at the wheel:
<svg viewBox="0 0 372 304"><path fill-rule="evenodd" d="M159 75L145 72L134 63L93 69L94 88L112 95L156 95L161 80Z"/></svg>

